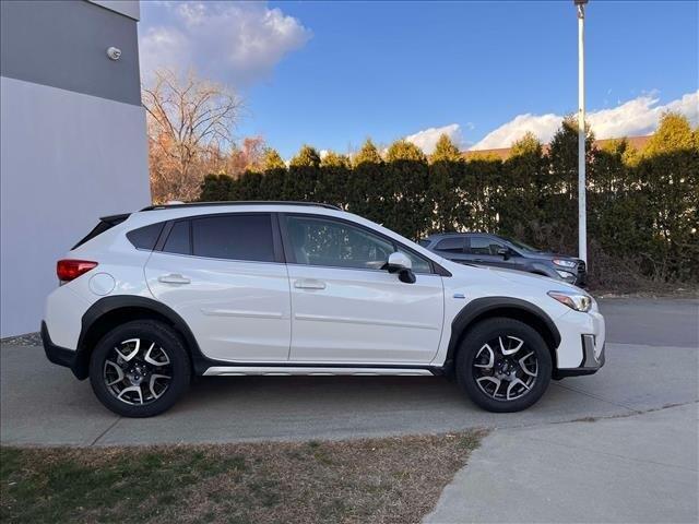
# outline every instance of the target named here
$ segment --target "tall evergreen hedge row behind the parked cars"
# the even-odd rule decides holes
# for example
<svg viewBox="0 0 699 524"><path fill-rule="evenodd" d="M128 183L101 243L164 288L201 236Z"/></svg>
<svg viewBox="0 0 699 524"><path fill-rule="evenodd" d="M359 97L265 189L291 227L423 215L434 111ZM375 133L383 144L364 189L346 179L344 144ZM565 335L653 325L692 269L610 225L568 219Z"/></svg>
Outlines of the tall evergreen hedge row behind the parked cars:
<svg viewBox="0 0 699 524"><path fill-rule="evenodd" d="M668 114L643 152L624 140L588 150L589 262L604 287L699 282L699 131ZM268 152L262 172L209 175L202 201L327 202L418 239L493 231L541 249L578 248L578 136L567 119L548 148L532 135L506 160L465 159L447 136L427 158L405 141L381 155L367 141L352 159L304 146L288 167ZM631 282L633 281L633 282Z"/></svg>

